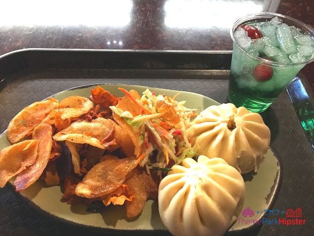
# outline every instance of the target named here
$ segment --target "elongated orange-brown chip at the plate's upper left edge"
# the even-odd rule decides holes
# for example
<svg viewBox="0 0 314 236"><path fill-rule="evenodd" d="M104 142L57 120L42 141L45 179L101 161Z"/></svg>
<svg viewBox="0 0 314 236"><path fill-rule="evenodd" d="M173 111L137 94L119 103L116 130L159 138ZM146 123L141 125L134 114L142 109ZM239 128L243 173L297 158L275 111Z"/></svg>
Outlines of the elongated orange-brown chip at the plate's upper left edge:
<svg viewBox="0 0 314 236"><path fill-rule="evenodd" d="M34 102L19 112L9 123L7 138L11 143L16 143L27 136L59 105L58 101L50 98L41 102Z"/></svg>

